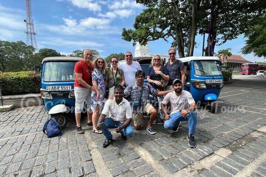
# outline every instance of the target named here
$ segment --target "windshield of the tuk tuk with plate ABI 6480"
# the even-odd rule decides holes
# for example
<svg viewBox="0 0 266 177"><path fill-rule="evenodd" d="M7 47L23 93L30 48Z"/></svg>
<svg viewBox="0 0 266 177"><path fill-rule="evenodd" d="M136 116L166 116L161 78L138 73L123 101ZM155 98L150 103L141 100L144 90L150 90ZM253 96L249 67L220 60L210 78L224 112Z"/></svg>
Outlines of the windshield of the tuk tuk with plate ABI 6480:
<svg viewBox="0 0 266 177"><path fill-rule="evenodd" d="M195 75L222 75L218 61L201 60L194 62Z"/></svg>

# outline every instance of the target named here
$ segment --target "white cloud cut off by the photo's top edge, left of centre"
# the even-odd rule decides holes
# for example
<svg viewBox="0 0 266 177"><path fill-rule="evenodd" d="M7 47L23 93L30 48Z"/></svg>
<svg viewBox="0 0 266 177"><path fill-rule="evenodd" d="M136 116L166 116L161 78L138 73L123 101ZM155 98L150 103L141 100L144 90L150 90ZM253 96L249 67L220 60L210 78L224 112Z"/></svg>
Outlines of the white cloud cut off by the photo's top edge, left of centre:
<svg viewBox="0 0 266 177"><path fill-rule="evenodd" d="M91 0L68 0L71 2L74 6L77 6L78 8L87 8L93 12L101 11L101 6L95 2L91 2Z"/></svg>

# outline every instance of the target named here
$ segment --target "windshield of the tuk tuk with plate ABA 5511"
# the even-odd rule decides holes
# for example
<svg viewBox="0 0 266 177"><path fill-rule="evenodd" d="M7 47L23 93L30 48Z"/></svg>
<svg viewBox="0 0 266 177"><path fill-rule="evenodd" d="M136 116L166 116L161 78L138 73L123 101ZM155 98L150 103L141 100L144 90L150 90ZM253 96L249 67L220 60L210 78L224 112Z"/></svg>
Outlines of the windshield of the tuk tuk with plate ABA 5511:
<svg viewBox="0 0 266 177"><path fill-rule="evenodd" d="M74 81L76 61L47 62L44 65L43 81Z"/></svg>

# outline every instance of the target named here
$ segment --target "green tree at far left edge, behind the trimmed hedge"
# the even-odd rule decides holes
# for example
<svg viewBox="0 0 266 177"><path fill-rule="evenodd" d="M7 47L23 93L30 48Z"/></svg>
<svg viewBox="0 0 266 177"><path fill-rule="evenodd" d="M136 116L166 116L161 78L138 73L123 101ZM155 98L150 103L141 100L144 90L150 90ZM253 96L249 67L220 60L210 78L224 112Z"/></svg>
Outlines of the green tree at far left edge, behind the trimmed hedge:
<svg viewBox="0 0 266 177"><path fill-rule="evenodd" d="M35 49L26 45L23 41L0 41L0 63L2 71L25 71L34 67Z"/></svg>

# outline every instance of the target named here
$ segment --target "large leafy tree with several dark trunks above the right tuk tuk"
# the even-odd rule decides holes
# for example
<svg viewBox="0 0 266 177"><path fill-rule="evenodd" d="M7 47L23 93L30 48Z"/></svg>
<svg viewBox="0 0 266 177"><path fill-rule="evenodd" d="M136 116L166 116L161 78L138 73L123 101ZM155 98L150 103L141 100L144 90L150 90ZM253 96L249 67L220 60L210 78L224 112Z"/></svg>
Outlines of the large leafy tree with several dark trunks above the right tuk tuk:
<svg viewBox="0 0 266 177"><path fill-rule="evenodd" d="M122 31L122 39L144 45L148 41L173 41L179 57L193 56L199 29L210 29L211 51L215 45L236 39L265 11L264 0L136 0L147 8L137 15L134 29ZM210 21L210 23L209 23ZM209 25L210 24L210 25ZM210 28L209 28L210 27ZM218 37L217 37L218 36ZM209 43L208 45L209 46ZM209 49L206 49L208 54Z"/></svg>

